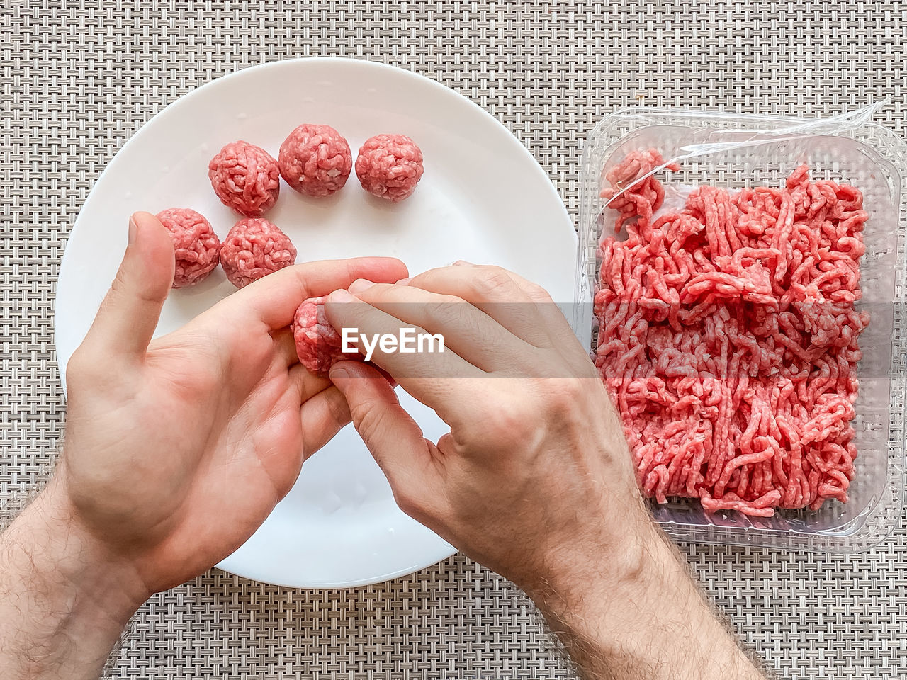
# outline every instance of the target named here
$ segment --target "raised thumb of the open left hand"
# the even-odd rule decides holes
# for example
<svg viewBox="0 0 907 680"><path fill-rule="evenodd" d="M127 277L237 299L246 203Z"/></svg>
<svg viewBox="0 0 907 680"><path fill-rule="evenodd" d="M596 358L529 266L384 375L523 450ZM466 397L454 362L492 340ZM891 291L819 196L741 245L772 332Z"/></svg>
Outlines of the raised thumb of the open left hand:
<svg viewBox="0 0 907 680"><path fill-rule="evenodd" d="M173 285L173 239L151 213L130 218L129 244L85 343L107 356L143 357Z"/></svg>

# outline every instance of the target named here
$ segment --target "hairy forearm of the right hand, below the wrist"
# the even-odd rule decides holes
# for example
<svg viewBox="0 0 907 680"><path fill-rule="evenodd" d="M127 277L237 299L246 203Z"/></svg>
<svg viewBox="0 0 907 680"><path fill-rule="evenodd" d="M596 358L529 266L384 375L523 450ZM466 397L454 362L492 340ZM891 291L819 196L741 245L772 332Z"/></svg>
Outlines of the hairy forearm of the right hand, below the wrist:
<svg viewBox="0 0 907 680"><path fill-rule="evenodd" d="M762 680L674 546L652 526L536 601L586 680ZM531 593L532 595L532 593Z"/></svg>

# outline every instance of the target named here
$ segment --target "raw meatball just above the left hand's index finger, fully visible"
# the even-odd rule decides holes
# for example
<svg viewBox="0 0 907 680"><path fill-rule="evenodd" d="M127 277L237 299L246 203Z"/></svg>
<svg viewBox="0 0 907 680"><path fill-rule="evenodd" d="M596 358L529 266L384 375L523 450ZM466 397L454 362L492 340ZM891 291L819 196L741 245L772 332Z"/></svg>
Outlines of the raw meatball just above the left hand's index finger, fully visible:
<svg viewBox="0 0 907 680"><path fill-rule="evenodd" d="M224 238L220 264L229 282L241 288L296 262L288 236L264 218L240 219Z"/></svg>

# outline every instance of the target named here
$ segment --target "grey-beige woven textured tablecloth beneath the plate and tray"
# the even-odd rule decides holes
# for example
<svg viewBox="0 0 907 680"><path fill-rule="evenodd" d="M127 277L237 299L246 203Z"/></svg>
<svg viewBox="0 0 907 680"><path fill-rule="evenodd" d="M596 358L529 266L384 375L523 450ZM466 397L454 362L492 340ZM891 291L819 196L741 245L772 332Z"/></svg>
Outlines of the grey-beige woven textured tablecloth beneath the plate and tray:
<svg viewBox="0 0 907 680"><path fill-rule="evenodd" d="M578 151L616 106L841 112L884 96L905 131L898 3L28 2L0 8L0 505L63 435L54 284L93 181L152 114L202 83L291 56L434 78L535 154L571 213ZM907 676L907 534L851 558L686 546L746 642L791 678ZM0 672L2 675L2 672ZM113 678L570 675L506 581L462 556L370 588L307 591L219 570L151 598Z"/></svg>

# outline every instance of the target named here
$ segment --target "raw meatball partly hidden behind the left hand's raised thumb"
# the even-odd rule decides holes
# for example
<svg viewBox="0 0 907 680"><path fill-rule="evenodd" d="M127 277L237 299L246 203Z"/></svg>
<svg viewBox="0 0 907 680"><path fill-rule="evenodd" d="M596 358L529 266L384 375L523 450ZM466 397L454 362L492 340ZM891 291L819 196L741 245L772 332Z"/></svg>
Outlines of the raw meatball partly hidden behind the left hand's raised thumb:
<svg viewBox="0 0 907 680"><path fill-rule="evenodd" d="M161 210L157 218L173 237L173 287L193 286L207 278L218 266L220 255L220 239L208 220L188 208Z"/></svg>

